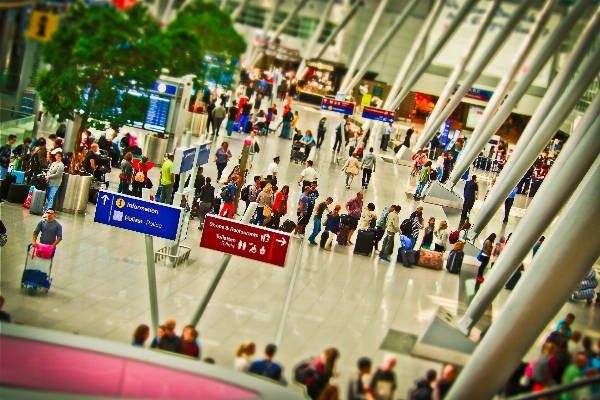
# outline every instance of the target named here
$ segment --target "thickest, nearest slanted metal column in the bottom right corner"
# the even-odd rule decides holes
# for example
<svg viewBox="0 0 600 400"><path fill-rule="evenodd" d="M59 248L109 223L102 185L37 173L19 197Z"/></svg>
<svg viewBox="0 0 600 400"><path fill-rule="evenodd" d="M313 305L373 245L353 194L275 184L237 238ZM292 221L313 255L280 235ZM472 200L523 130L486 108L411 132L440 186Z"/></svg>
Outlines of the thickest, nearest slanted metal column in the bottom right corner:
<svg viewBox="0 0 600 400"><path fill-rule="evenodd" d="M600 256L600 235L596 224L590 223L600 220L598 161L475 349L447 400L492 399Z"/></svg>

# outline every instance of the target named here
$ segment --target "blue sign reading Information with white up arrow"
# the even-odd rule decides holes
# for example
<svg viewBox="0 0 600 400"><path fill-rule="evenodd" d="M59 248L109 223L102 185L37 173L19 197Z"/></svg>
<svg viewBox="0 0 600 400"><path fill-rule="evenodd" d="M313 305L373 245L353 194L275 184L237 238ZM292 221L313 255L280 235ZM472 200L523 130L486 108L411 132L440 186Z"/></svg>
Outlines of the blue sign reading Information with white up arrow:
<svg viewBox="0 0 600 400"><path fill-rule="evenodd" d="M181 211L179 207L101 190L94 222L175 240Z"/></svg>

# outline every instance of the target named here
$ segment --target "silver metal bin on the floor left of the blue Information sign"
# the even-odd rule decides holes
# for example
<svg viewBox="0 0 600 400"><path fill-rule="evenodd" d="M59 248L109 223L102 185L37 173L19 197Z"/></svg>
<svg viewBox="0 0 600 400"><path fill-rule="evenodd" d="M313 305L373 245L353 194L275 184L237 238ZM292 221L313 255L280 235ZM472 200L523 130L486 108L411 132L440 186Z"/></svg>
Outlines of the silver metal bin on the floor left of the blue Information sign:
<svg viewBox="0 0 600 400"><path fill-rule="evenodd" d="M56 195L54 208L69 214L81 214L87 209L92 176L85 172L63 174L63 180Z"/></svg>

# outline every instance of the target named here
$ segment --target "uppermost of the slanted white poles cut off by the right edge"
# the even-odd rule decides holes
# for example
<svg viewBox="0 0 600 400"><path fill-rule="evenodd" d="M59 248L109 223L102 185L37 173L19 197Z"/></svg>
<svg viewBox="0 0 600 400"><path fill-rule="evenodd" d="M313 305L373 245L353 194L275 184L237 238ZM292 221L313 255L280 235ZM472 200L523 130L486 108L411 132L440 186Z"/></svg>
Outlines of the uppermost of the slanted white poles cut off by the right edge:
<svg viewBox="0 0 600 400"><path fill-rule="evenodd" d="M540 125L546 120L546 118L549 115L552 115L550 113L550 110L552 110L552 107L554 107L556 99L560 97L560 95L565 91L573 77L577 74L577 69L579 68L579 65L594 45L594 42L599 34L600 8L597 8L594 15L590 18L590 21L588 22L585 30L579 37L579 40L573 47L573 51L569 55L569 58L561 67L560 72L558 73L556 78L554 78L552 84L546 91L546 94L542 98L542 101L538 105L537 109L535 110L535 113L531 117L531 120L527 124L525 131L521 134L521 137L519 138L519 142L517 143L515 150L513 151L510 159L508 160L504 168L502 168L502 173L498 176L498 180L496 180L496 185L494 186L494 189L492 189L492 191L490 192L490 197L492 197L493 193L497 192L498 188L502 186L501 184L504 180L504 177L508 175L517 159L520 158L519 154L521 154L523 150L528 146L529 142L533 139L534 135L538 131ZM521 90L525 89L522 88ZM510 96L507 100L510 100ZM516 102L514 104L516 105ZM513 108L511 107L510 111L512 110ZM569 110L571 110L571 108ZM503 107L501 108L501 111L506 113L508 112L508 108ZM509 114L506 114L506 116L508 115ZM497 117L499 119L500 116ZM504 122L504 119L505 118L502 119L502 122ZM495 120L494 122L498 123L498 120ZM500 122L500 125L502 124L502 122ZM498 125L498 127L500 125ZM504 201L504 198L502 199L502 201Z"/></svg>

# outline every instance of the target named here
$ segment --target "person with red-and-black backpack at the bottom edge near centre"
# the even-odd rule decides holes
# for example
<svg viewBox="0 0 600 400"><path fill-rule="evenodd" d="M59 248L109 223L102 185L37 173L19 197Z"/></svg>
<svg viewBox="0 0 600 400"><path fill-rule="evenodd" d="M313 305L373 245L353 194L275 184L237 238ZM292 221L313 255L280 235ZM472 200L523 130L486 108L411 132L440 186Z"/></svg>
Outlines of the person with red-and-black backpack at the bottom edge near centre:
<svg viewBox="0 0 600 400"><path fill-rule="evenodd" d="M312 400L319 398L335 375L335 362L339 357L338 349L331 347L317 358L302 361L294 368L294 380L306 386L306 393Z"/></svg>

